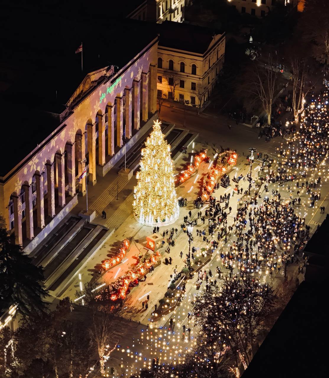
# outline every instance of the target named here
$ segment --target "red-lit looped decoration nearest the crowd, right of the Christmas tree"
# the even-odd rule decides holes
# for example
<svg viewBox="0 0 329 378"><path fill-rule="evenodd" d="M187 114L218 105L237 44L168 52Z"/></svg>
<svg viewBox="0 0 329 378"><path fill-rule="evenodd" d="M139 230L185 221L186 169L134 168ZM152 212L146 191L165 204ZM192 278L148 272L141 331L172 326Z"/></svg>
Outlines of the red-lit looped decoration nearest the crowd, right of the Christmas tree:
<svg viewBox="0 0 329 378"><path fill-rule="evenodd" d="M221 163L222 158L227 155L227 163ZM227 173L233 166L236 165L237 154L234 151L225 151L220 153L217 157L216 166L208 172L203 178L203 185L201 189L202 201L207 201L214 191L214 186L220 176ZM219 163L218 163L219 162Z"/></svg>

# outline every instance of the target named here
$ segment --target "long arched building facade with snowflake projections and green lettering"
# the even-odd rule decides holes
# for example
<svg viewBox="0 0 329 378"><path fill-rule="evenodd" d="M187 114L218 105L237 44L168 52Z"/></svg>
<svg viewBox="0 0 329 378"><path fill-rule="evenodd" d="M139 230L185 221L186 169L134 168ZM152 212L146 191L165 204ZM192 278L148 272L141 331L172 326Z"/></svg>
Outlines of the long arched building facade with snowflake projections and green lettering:
<svg viewBox="0 0 329 378"><path fill-rule="evenodd" d="M53 132L0 177L0 214L16 244L36 246L85 195L84 169L96 185L124 153L156 112L156 65L157 37L117 71L89 72Z"/></svg>

